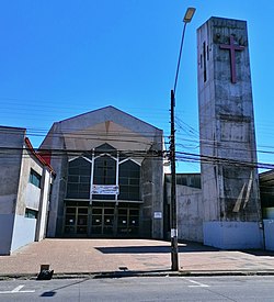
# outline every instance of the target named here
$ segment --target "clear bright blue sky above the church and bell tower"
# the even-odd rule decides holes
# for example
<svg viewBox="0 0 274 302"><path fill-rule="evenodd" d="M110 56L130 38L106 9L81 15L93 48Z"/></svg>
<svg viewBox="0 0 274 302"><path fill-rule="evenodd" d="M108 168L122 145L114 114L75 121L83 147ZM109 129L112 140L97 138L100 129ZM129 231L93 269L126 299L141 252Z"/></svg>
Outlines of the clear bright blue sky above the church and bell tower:
<svg viewBox="0 0 274 302"><path fill-rule="evenodd" d="M176 149L198 153L196 29L210 16L248 21L258 158L274 164L274 1L2 0L0 124L27 128L38 147L50 125L114 105L170 134L182 19L187 25L176 88ZM265 153L266 152L266 153ZM178 163L178 172L199 165Z"/></svg>

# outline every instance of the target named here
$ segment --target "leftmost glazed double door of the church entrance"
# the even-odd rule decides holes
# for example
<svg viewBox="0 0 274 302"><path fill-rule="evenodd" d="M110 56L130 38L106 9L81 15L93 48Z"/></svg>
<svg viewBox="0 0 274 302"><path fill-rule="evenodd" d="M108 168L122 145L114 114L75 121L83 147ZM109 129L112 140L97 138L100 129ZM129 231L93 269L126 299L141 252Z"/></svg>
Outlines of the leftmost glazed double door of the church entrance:
<svg viewBox="0 0 274 302"><path fill-rule="evenodd" d="M88 235L88 206L67 206L65 235L85 237Z"/></svg>

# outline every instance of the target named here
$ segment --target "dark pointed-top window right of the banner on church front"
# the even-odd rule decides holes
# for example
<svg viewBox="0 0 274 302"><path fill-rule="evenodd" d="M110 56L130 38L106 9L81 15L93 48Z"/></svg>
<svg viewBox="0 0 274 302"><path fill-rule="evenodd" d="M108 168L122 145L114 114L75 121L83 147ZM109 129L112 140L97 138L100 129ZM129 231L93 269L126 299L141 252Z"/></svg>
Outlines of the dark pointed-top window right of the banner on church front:
<svg viewBox="0 0 274 302"><path fill-rule="evenodd" d="M119 165L119 200L140 200L140 166L133 160Z"/></svg>

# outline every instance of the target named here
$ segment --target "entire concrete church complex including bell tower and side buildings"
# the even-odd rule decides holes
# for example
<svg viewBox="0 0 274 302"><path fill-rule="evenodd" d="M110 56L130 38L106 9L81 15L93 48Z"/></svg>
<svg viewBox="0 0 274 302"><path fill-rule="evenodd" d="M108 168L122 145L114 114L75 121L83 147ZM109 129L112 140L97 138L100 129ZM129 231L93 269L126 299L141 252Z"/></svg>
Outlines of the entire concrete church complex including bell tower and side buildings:
<svg viewBox="0 0 274 302"><path fill-rule="evenodd" d="M274 250L247 22L210 18L197 30L197 76L201 174L176 175L178 238ZM170 239L162 130L110 105L55 122L37 153L23 128L0 127L0 255L45 236Z"/></svg>

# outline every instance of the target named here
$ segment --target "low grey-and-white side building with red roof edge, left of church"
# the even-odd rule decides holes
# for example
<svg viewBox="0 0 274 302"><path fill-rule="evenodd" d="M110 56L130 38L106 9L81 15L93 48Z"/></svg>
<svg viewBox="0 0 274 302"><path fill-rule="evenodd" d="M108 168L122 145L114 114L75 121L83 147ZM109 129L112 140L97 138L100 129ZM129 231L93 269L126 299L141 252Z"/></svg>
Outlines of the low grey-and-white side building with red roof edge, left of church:
<svg viewBox="0 0 274 302"><path fill-rule="evenodd" d="M54 171L25 128L0 126L0 255L45 237Z"/></svg>

